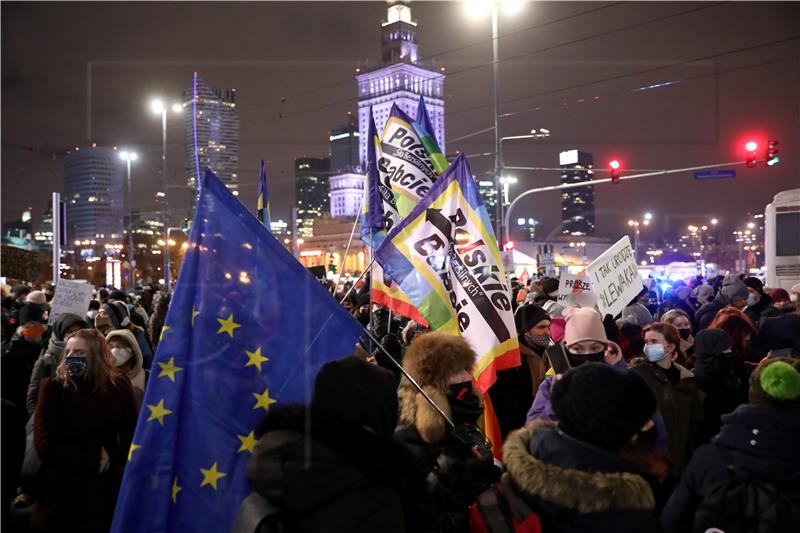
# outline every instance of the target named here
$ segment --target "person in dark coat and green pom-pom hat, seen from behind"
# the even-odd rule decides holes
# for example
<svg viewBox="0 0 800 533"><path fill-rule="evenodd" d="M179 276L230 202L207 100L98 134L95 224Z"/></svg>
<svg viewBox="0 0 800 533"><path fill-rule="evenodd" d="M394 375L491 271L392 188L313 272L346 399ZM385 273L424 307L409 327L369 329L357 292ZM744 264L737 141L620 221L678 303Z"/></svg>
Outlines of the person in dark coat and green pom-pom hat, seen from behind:
<svg viewBox="0 0 800 533"><path fill-rule="evenodd" d="M750 403L722 417L722 431L697 449L661 514L667 533L691 531L695 512L713 488L743 468L800 498L800 360L771 359L750 376ZM800 501L800 500L795 500Z"/></svg>

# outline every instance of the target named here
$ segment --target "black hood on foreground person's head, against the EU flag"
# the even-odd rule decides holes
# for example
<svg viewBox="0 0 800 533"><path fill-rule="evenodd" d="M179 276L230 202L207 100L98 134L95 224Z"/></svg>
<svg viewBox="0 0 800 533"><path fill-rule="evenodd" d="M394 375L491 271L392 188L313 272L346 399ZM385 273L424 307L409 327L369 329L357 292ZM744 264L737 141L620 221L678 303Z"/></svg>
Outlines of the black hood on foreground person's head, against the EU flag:
<svg viewBox="0 0 800 533"><path fill-rule="evenodd" d="M311 410L329 420L390 436L398 419L395 384L390 371L354 355L331 361L317 374Z"/></svg>

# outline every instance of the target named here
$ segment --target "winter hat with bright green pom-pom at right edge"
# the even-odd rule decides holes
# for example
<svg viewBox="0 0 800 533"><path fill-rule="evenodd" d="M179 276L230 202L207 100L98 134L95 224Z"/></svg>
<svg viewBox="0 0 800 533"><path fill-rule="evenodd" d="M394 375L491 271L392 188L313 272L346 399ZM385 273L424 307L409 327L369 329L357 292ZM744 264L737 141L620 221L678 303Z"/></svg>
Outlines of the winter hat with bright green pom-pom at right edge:
<svg viewBox="0 0 800 533"><path fill-rule="evenodd" d="M800 406L800 359L767 359L750 375L750 403Z"/></svg>

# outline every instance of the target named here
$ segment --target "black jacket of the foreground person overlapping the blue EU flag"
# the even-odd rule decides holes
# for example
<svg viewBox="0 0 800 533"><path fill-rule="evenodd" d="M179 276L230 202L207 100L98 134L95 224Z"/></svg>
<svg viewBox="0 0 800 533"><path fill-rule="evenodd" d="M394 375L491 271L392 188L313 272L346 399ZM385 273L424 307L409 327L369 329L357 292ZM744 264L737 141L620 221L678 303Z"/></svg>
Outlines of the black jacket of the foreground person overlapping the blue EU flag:
<svg viewBox="0 0 800 533"><path fill-rule="evenodd" d="M304 421L303 408L284 406L271 409L262 424L268 429L246 476L269 502L272 516L256 531L414 531L406 518L413 523L418 513L404 505L415 491L404 483L416 476L403 449L388 436L313 415L309 441Z"/></svg>

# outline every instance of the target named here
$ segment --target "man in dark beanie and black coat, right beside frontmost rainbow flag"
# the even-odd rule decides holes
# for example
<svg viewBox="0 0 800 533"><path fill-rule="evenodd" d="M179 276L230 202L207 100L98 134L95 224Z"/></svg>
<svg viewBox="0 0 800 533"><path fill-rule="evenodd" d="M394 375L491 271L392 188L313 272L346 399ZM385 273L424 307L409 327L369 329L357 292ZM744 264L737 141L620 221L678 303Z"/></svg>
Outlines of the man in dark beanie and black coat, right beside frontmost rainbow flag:
<svg viewBox="0 0 800 533"><path fill-rule="evenodd" d="M503 439L525 425L528 409L548 368L544 351L550 344L550 316L538 305L526 303L517 308L514 322L519 334L520 364L497 372L497 380L489 389Z"/></svg>

